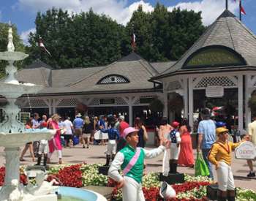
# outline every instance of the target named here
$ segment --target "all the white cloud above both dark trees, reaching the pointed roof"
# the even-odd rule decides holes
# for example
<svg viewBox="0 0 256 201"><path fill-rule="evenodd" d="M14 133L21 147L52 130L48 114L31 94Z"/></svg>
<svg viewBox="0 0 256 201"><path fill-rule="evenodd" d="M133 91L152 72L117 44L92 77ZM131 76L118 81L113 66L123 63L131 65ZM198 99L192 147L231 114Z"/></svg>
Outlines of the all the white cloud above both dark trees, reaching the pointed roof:
<svg viewBox="0 0 256 201"><path fill-rule="evenodd" d="M238 10L238 2L229 1L229 10L235 12ZM104 13L110 16L118 23L126 24L132 17L132 12L138 9L139 5L143 6L145 12L151 12L154 7L145 2L145 0L135 0L128 5L127 0L18 0L18 7L29 12L45 12L52 7L69 10L69 12L87 12L90 8L98 14ZM182 10L202 11L203 24L209 25L225 10L225 1L223 0L197 0L190 2L180 2L174 7L181 7ZM174 7L168 7L168 10L173 10Z"/></svg>

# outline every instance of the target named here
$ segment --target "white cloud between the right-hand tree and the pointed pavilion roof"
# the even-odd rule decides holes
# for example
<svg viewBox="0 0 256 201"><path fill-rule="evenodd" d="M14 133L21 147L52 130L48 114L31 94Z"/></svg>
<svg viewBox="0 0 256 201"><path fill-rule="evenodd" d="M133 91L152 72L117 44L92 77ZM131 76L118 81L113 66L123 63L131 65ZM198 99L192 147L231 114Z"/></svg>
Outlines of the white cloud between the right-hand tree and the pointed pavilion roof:
<svg viewBox="0 0 256 201"><path fill-rule="evenodd" d="M223 0L203 0L186 3L178 3L174 7L180 7L181 10L195 10L195 12L202 12L202 20L204 25L209 25L216 20L220 14L225 10L225 1ZM167 10L171 11L174 7L168 7ZM238 3L233 0L228 2L228 10L235 12L238 10Z"/></svg>

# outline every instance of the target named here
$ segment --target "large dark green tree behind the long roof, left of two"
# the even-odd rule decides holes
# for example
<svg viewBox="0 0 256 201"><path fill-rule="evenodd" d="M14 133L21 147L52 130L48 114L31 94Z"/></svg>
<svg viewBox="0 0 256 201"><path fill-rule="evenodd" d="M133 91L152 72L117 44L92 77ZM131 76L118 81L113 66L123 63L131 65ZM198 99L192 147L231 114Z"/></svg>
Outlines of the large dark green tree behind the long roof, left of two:
<svg viewBox="0 0 256 201"><path fill-rule="evenodd" d="M39 58L55 68L94 67L121 57L122 29L116 21L92 10L69 15L61 9L37 13L36 33L30 34L32 59ZM39 36L52 56L37 45Z"/></svg>

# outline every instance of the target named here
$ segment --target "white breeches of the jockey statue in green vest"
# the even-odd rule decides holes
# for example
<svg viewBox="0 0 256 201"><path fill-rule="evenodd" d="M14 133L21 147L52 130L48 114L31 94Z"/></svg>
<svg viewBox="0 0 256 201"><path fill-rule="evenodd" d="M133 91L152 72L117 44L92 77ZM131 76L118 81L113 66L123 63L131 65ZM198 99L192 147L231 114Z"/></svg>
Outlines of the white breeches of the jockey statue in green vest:
<svg viewBox="0 0 256 201"><path fill-rule="evenodd" d="M124 176L123 201L145 201L141 183Z"/></svg>

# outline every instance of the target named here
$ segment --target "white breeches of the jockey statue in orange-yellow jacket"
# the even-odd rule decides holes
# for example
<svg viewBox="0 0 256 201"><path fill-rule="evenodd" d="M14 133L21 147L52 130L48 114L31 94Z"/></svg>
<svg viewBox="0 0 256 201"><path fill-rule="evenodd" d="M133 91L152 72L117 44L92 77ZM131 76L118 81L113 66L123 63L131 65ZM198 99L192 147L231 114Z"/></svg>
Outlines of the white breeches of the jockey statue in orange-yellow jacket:
<svg viewBox="0 0 256 201"><path fill-rule="evenodd" d="M216 170L219 190L227 191L234 190L235 183L231 166L225 162L219 162L219 168Z"/></svg>

